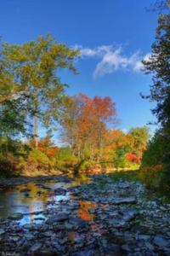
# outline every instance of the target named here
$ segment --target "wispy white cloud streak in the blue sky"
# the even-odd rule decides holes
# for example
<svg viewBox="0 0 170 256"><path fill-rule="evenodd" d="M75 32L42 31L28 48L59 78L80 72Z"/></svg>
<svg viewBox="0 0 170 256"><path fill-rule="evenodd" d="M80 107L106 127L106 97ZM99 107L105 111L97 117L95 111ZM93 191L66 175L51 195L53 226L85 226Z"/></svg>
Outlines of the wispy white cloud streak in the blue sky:
<svg viewBox="0 0 170 256"><path fill-rule="evenodd" d="M102 45L96 48L82 48L80 49L82 58L98 58L94 70L94 79L104 76L107 73L114 73L117 70L127 70L133 72L140 72L143 68L141 60L148 60L150 54L141 55L139 50L132 55L124 55L122 47L113 47L112 45Z"/></svg>

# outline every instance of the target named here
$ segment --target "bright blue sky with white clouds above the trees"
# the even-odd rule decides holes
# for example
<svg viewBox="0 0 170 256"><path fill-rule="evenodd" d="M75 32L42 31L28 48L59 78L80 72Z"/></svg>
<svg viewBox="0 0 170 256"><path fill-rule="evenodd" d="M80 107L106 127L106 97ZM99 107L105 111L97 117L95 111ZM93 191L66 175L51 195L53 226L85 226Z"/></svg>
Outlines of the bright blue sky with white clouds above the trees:
<svg viewBox="0 0 170 256"><path fill-rule="evenodd" d="M70 85L67 93L111 96L128 131L153 121L149 93L151 78L141 72L150 55L157 14L146 11L153 0L1 0L0 36L10 44L36 40L50 33L59 43L79 48L79 72L60 73ZM155 127L150 126L153 132Z"/></svg>

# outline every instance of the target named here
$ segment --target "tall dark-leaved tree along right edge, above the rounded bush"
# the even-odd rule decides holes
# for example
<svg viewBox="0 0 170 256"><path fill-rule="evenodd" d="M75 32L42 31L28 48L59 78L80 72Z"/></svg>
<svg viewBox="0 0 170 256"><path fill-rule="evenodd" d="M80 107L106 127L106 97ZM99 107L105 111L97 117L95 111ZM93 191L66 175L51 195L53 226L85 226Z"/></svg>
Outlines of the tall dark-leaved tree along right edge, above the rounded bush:
<svg viewBox="0 0 170 256"><path fill-rule="evenodd" d="M153 84L150 85L150 96L156 102L153 113L158 123L170 124L170 15L160 15L156 30L156 42L152 44L149 60L143 61L146 73L152 74Z"/></svg>

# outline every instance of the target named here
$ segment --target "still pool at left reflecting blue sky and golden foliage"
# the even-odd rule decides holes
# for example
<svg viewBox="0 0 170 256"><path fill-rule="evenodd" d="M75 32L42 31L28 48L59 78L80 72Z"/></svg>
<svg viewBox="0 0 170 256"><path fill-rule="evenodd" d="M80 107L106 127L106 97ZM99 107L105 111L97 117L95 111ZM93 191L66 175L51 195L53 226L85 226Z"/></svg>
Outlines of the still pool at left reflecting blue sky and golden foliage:
<svg viewBox="0 0 170 256"><path fill-rule="evenodd" d="M20 212L24 217L20 224L41 224L45 219L42 212L47 210L48 202L69 200L69 195L55 195L54 189L64 187L64 183L37 183L19 185L0 192L0 218L8 218ZM47 187L46 187L47 186Z"/></svg>

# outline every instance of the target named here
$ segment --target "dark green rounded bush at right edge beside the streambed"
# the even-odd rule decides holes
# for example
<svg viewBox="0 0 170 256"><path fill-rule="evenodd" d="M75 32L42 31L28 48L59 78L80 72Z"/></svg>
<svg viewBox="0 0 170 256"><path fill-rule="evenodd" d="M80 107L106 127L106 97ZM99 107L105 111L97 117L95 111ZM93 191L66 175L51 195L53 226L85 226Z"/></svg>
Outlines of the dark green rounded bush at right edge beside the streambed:
<svg viewBox="0 0 170 256"><path fill-rule="evenodd" d="M156 131L144 152L139 177L147 188L161 192L170 192L170 164L166 134Z"/></svg>

